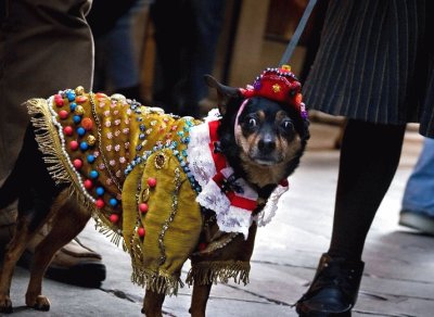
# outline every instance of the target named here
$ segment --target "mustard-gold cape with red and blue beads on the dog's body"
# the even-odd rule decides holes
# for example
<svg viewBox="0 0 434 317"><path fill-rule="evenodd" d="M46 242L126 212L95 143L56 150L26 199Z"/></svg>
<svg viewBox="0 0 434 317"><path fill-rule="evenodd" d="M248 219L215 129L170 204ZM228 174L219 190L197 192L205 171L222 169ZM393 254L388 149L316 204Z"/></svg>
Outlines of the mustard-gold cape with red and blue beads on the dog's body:
<svg viewBox="0 0 434 317"><path fill-rule="evenodd" d="M80 87L27 107L50 174L71 185L100 231L123 238L132 281L176 294L202 230L186 154L189 129L201 122Z"/></svg>

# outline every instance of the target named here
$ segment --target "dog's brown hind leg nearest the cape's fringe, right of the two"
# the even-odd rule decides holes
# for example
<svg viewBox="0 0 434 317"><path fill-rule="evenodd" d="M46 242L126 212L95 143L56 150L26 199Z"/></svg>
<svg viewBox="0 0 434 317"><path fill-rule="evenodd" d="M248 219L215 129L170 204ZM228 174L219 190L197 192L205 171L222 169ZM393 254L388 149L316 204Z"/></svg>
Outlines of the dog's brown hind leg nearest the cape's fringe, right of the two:
<svg viewBox="0 0 434 317"><path fill-rule="evenodd" d="M30 281L26 292L26 305L38 310L49 310L50 301L41 294L43 275L55 252L74 239L86 226L90 212L78 205L74 198L65 201L61 194L54 205L60 204L59 212L50 224L51 230L35 249L30 269Z"/></svg>

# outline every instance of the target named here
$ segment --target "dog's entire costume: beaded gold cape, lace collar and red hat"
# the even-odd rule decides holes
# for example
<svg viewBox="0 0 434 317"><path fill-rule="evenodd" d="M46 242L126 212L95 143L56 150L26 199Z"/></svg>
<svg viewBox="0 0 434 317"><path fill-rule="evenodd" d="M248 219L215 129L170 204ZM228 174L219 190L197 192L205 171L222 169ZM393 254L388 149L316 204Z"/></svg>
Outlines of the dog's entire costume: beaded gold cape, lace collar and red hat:
<svg viewBox="0 0 434 317"><path fill-rule="evenodd" d="M306 116L301 94L288 94L294 85L299 83L289 68L267 68L240 91L246 99L291 98ZM53 179L69 185L92 210L100 231L117 244L123 241L132 281L153 291L176 294L182 265L192 254L213 253L240 233L246 239L253 221L271 219L288 190L284 180L263 208L255 190L234 178L218 152L218 111L204 121L179 117L81 87L31 99L27 107ZM210 223L224 233L204 243ZM250 262L228 261L193 266L187 280L246 283L248 271Z"/></svg>

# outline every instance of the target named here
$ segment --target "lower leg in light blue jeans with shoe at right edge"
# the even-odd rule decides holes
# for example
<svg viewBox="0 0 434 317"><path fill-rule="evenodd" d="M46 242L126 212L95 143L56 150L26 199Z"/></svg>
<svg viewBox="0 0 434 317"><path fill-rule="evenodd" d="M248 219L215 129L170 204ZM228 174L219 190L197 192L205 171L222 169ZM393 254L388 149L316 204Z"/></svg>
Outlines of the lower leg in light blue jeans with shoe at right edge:
<svg viewBox="0 0 434 317"><path fill-rule="evenodd" d="M434 139L425 138L422 152L403 196L399 225L434 234Z"/></svg>

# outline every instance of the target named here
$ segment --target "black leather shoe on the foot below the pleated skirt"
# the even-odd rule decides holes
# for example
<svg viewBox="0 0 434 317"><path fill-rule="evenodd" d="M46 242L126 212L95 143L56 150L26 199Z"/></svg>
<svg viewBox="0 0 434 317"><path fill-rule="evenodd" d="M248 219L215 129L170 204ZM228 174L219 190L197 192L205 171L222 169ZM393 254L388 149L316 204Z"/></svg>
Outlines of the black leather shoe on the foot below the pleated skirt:
<svg viewBox="0 0 434 317"><path fill-rule="evenodd" d="M295 304L299 316L350 316L365 263L322 254L307 292Z"/></svg>

